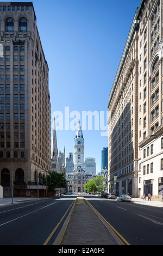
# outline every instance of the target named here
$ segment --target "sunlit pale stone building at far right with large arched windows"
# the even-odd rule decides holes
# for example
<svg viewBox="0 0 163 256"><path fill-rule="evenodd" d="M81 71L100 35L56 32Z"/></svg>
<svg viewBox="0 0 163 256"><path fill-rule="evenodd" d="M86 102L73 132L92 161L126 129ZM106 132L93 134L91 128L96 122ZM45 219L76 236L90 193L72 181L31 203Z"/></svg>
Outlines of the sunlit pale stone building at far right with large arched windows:
<svg viewBox="0 0 163 256"><path fill-rule="evenodd" d="M139 194L163 189L163 36L161 0L142 1L139 21Z"/></svg>

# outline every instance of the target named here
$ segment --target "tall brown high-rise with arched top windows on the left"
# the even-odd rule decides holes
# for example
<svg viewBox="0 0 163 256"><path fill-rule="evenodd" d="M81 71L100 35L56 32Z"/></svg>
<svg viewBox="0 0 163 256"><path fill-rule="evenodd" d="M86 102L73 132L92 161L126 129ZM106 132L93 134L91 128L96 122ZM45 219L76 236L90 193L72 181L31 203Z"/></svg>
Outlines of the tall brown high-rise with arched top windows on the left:
<svg viewBox="0 0 163 256"><path fill-rule="evenodd" d="M32 3L0 2L0 17L0 184L36 196L51 169L48 64Z"/></svg>

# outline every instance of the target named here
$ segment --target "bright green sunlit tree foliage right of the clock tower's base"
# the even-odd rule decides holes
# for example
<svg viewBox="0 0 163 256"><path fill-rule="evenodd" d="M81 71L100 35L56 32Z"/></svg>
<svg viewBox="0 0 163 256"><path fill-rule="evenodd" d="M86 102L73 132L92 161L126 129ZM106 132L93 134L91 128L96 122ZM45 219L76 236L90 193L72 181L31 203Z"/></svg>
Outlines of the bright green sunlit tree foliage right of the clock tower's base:
<svg viewBox="0 0 163 256"><path fill-rule="evenodd" d="M84 189L93 192L93 191L103 191L103 181L106 181L106 178L103 176L96 176L87 182L84 186ZM98 185L97 185L98 184Z"/></svg>

